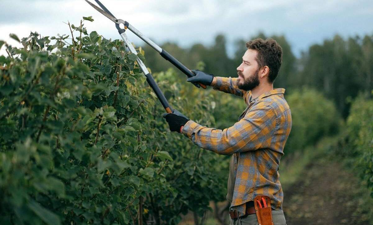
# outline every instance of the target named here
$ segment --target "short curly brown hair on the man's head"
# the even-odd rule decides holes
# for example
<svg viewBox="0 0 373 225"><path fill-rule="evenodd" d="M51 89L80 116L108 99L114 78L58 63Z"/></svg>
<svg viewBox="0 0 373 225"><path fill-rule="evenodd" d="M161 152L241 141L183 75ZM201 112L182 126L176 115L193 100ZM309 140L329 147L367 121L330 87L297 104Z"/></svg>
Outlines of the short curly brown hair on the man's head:
<svg viewBox="0 0 373 225"><path fill-rule="evenodd" d="M256 50L258 52L256 61L259 68L264 66L269 67L268 82L273 83L278 75L282 63L282 48L273 39L267 38L265 41L257 38L253 41L246 42L247 49Z"/></svg>

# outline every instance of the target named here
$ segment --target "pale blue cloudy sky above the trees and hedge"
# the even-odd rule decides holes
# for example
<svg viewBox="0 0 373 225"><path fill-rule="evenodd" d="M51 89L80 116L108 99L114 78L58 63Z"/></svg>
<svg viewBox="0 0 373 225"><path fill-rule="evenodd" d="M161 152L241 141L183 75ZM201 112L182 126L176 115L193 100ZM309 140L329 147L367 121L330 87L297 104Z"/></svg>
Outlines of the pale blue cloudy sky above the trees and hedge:
<svg viewBox="0 0 373 225"><path fill-rule="evenodd" d="M94 3L94 0L91 0ZM101 0L118 18L127 20L157 44L174 41L186 47L195 42L211 44L217 34L232 43L263 31L283 34L295 55L311 44L335 34L343 37L373 34L372 0ZM63 22L78 25L82 16L90 31L105 38L120 38L113 22L95 11L84 0L0 0L0 39L17 45L30 31L42 36L69 34ZM129 32L128 32L129 33ZM135 44L143 44L134 35ZM19 45L19 44L18 44ZM5 54L0 50L0 55Z"/></svg>

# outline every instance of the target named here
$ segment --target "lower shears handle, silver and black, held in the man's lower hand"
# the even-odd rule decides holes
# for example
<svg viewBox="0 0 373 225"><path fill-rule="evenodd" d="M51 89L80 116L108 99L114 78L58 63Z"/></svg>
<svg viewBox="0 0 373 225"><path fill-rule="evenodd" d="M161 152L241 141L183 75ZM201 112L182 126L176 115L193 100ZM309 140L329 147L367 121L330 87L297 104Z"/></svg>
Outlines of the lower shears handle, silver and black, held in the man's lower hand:
<svg viewBox="0 0 373 225"><path fill-rule="evenodd" d="M120 37L122 37L122 39L123 39L124 43L126 44L126 46L128 47L129 51L131 53L137 55L137 51L136 51L135 47L132 45L131 41L129 41L129 39L128 39L127 35L125 34L125 32L124 31L123 32L119 31L119 34L120 34ZM166 97L164 96L164 94L162 93L161 89L157 85L157 83L154 80L153 76L151 76L151 73L149 73L149 71L146 68L145 64L141 61L141 59L139 57L137 57L136 61L137 61L137 64L140 66L140 69L142 70L142 72L145 74L146 81L148 82L149 86L151 87L151 89L153 89L154 93L156 93L157 98L161 102L164 110L166 110L167 113L173 113L173 109L171 108L171 106L168 103Z"/></svg>

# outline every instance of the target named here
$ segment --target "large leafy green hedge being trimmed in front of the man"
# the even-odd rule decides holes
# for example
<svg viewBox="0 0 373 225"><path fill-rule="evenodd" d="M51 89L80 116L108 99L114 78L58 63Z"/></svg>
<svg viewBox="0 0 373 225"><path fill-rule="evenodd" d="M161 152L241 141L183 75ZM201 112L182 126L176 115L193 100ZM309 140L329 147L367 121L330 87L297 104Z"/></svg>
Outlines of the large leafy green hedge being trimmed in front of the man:
<svg viewBox="0 0 373 225"><path fill-rule="evenodd" d="M122 41L72 29L73 40L35 32L23 48L0 42L10 54L0 57L1 224L177 224L188 210L203 215L226 191L220 156L168 130ZM173 70L154 77L174 108L211 125L209 91Z"/></svg>

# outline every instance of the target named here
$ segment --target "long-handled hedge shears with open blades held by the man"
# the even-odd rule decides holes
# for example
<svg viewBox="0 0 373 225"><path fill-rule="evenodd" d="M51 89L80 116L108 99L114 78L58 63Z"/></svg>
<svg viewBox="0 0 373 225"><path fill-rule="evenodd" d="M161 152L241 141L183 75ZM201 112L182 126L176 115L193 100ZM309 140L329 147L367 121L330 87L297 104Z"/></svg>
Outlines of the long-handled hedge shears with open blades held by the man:
<svg viewBox="0 0 373 225"><path fill-rule="evenodd" d="M130 25L127 21L124 21L122 19L117 19L99 0L95 0L95 2L101 7L96 6L95 4L91 3L88 0L88 4L90 4L94 9L96 9L98 12L106 16L108 19L112 20L115 23L115 26L120 34L120 37L122 37L123 41L125 42L126 46L128 47L129 51L131 53L134 53L137 55L137 51L135 50L134 46L129 41L127 35L125 34L126 29L129 29L132 31L135 35L137 35L139 38L141 38L143 41L145 41L148 45L150 45L154 50L156 50L163 58L170 61L174 66L176 66L181 72L185 73L188 77L195 76L194 73L192 73L188 68L186 68L182 63L180 63L176 58L174 58L171 54L169 54L167 51L159 47L156 43L151 41L149 38L145 37L140 31L138 31L136 28L134 28L132 25ZM120 24L124 25L124 29L120 28ZM155 82L153 76L148 71L145 64L140 60L140 58L137 58L137 63L140 66L140 69L144 73L146 80L150 87L153 89L153 91L156 93L159 101L163 105L163 108L166 110L167 113L173 113L172 108L170 107L166 97L160 90L159 86ZM201 83L194 83L195 86L202 87L206 89L206 85L203 85Z"/></svg>

